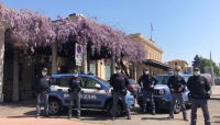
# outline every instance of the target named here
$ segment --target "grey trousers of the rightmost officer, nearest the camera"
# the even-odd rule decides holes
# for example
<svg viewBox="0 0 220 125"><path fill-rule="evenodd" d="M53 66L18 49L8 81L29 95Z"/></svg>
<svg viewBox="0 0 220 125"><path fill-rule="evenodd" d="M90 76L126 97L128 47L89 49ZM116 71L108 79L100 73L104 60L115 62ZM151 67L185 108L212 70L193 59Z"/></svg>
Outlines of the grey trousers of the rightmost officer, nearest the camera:
<svg viewBox="0 0 220 125"><path fill-rule="evenodd" d="M204 112L205 125L211 125L207 99L193 99L191 98L190 101L191 101L191 125L196 125L198 105L201 106L201 110Z"/></svg>

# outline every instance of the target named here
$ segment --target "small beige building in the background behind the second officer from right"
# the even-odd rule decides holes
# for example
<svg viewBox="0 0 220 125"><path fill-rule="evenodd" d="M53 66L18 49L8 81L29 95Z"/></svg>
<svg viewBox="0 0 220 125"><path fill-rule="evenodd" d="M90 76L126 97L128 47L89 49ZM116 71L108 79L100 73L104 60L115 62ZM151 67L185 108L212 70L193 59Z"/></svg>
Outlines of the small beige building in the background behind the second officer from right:
<svg viewBox="0 0 220 125"><path fill-rule="evenodd" d="M175 60L170 60L168 61L168 66L170 66L173 69L176 67L180 67L182 71L186 71L186 68L188 67L188 64L185 60L180 60L180 59L175 59Z"/></svg>

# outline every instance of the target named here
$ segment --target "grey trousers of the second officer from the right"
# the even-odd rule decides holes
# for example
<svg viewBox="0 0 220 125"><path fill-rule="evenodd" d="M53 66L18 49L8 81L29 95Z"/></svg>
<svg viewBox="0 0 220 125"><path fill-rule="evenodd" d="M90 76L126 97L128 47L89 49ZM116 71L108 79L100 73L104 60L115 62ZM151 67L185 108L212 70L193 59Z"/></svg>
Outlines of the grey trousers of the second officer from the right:
<svg viewBox="0 0 220 125"><path fill-rule="evenodd" d="M170 110L169 110L169 116L174 116L174 107L175 107L175 104L176 104L176 100L179 101L184 118L187 118L186 106L185 106L185 102L184 102L184 98L183 98L182 92L180 93L172 93L172 106L170 106Z"/></svg>

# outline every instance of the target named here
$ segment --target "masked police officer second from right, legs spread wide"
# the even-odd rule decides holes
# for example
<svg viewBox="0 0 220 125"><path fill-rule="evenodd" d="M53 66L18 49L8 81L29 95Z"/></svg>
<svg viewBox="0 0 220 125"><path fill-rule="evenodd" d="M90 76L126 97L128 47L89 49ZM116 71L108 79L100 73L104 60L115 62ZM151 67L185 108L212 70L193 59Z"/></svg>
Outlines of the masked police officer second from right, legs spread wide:
<svg viewBox="0 0 220 125"><path fill-rule="evenodd" d="M188 121L186 106L183 99L183 92L185 91L186 88L186 81L182 76L179 76L179 73L180 73L180 68L179 67L175 68L174 76L169 77L167 81L167 86L172 92L172 106L169 110L169 116L167 118L174 118L174 107L176 104L176 100L178 100L182 106L184 121Z"/></svg>

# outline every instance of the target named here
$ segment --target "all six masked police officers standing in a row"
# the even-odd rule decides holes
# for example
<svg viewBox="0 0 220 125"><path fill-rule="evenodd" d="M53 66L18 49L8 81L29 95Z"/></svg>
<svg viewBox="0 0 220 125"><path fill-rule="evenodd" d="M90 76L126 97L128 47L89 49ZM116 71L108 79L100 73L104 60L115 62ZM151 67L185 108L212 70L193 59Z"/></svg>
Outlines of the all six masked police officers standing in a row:
<svg viewBox="0 0 220 125"><path fill-rule="evenodd" d="M122 73L122 69L120 67L116 68L117 73L113 73L110 78L110 84L113 87L112 90L112 98L113 98L113 105L112 105L112 117L111 120L114 121L116 113L117 113L117 104L119 98L124 105L127 111L128 120L131 120L131 111L128 106L125 95L127 95L127 87L130 84L128 77ZM150 98L152 114L155 115L155 103L153 98L153 90L154 87L157 84L157 79L150 73L148 68L143 69L143 75L139 79L139 84L143 90L143 114L146 113L146 98ZM200 76L200 69L195 67L194 75L188 79L186 82L185 79L180 76L180 68L175 68L174 75L168 78L167 86L170 90L172 94L172 105L169 110L168 120L174 118L174 107L176 101L179 101L183 112L184 121L188 121L185 102L183 99L183 92L185 91L186 87L190 91L188 96L191 102L191 125L196 125L197 122L197 107L200 105L204 117L205 117L205 125L210 125L210 116L208 112L208 103L207 100L210 98L208 91L210 90L210 84L208 80ZM47 76L47 69L42 69L42 75L36 77L35 82L36 91L37 91L37 103L36 103L36 117L40 116L40 104L41 99L44 99L44 111L45 116L48 116L48 92L51 87L51 77ZM77 107L77 118L80 118L80 91L81 91L81 78L78 77L78 71L75 70L73 78L69 79L69 110L68 110L68 118L72 117L72 110L74 100L76 100L76 107Z"/></svg>

